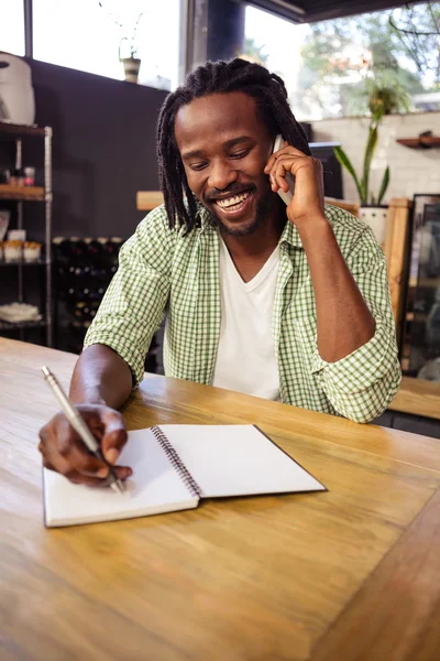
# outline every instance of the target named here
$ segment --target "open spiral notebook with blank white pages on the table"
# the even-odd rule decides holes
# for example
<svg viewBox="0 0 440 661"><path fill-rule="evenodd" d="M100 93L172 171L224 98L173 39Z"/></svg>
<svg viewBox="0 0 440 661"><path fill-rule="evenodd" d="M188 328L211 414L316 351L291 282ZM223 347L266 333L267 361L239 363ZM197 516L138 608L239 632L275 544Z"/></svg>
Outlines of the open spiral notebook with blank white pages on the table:
<svg viewBox="0 0 440 661"><path fill-rule="evenodd" d="M121 465L127 492L74 485L43 469L48 528L196 508L202 498L324 491L253 425L161 425L129 432Z"/></svg>

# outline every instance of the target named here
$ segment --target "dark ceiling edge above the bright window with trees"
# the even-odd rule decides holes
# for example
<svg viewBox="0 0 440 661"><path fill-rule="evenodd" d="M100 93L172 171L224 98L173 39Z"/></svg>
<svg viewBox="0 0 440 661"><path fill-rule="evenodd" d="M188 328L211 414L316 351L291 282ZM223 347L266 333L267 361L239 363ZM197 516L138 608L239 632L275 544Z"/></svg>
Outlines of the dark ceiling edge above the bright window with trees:
<svg viewBox="0 0 440 661"><path fill-rule="evenodd" d="M413 3L421 1L424 0L416 0L416 2L413 0ZM336 0L246 0L246 4L254 4L296 23L314 23L402 7L407 2L397 0L339 0L339 2Z"/></svg>

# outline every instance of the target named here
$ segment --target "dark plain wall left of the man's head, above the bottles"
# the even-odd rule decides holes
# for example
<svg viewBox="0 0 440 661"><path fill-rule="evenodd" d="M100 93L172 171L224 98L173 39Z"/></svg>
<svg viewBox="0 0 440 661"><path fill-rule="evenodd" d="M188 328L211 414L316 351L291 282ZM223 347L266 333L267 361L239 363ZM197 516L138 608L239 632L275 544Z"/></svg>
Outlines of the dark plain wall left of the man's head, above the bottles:
<svg viewBox="0 0 440 661"><path fill-rule="evenodd" d="M136 191L158 187L155 124L167 93L30 64L36 122L54 129L54 235L130 236L143 216Z"/></svg>

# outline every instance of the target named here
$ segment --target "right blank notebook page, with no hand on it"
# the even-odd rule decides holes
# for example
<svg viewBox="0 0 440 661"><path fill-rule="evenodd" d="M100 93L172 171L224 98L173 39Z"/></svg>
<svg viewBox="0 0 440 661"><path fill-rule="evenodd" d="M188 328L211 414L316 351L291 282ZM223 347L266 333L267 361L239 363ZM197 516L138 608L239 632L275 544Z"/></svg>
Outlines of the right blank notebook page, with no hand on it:
<svg viewBox="0 0 440 661"><path fill-rule="evenodd" d="M321 491L326 487L253 425L161 425L201 496Z"/></svg>

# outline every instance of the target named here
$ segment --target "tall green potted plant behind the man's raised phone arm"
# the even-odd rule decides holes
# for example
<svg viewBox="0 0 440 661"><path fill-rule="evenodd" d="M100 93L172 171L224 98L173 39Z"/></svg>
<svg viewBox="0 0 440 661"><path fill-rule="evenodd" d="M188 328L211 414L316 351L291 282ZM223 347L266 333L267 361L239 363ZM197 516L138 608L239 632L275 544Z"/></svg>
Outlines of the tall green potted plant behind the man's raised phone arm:
<svg viewBox="0 0 440 661"><path fill-rule="evenodd" d="M361 176L358 176L349 156L341 147L334 148L334 155L353 177L361 201L360 217L371 226L378 242L383 245L385 241L388 207L387 205L383 205L382 201L389 184L389 167L386 167L377 195L375 195L370 188L371 164L377 147L378 127L383 118L385 115L396 112L400 107L407 107L408 99L406 93L398 84L393 85L389 82L384 84L370 79L366 83L366 93L371 121Z"/></svg>

